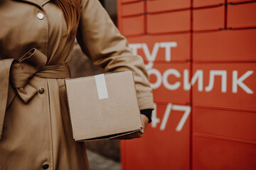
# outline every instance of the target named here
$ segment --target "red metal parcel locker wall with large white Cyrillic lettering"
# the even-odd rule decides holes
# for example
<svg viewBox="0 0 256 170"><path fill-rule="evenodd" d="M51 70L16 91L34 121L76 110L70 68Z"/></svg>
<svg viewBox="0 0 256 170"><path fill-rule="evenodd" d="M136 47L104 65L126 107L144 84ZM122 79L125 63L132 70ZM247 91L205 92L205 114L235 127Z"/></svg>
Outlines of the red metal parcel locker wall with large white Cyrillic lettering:
<svg viewBox="0 0 256 170"><path fill-rule="evenodd" d="M174 1L165 0L170 4ZM137 49L137 53L142 55L149 67L151 84L154 86L156 112L152 115L153 122L149 124L144 137L121 142L122 170L256 169L256 142L252 129L256 113L256 48L254 47L256 29L193 33L193 45L191 45L188 42L191 40L189 33L166 34L191 29L191 11L176 11L176 9L186 8L183 6L186 4L185 1L177 1L171 6L164 4L164 0L144 1L149 13L147 16L139 16L142 15L140 5L136 6L136 10L131 10L135 8L131 7L133 4L142 4L142 1L122 0L122 2L125 3L122 5L127 6L122 8L125 16L138 15L121 18L122 26L125 24L122 27L124 35L133 35L129 37L130 44L146 44L151 58L154 47L157 48L156 43L176 42L177 45L171 47L171 57L166 57L166 48L159 47L156 59L151 62L151 65L148 63L149 57L146 57L145 50L142 47ZM224 6L218 5L224 3L224 0L193 0L193 7L215 6L194 9L193 26L197 26L198 28L195 28L198 30L218 29L223 25L224 17L222 15ZM254 23L254 18L250 19L247 15L250 10L244 13L243 8L238 8L236 11L242 12L240 17L247 17L245 21L240 18L230 19L234 16L230 12L232 9L230 7L228 5L228 27L244 28L250 27L248 23ZM201 13L197 13L198 11ZM201 22L202 20L199 19L197 20L199 23L195 20L202 16L212 16L213 13L214 20ZM146 20L145 17L147 17ZM159 35L144 35L145 33ZM192 125L189 117L191 108L187 106L191 103L191 91L184 89L184 70L190 74L192 68L191 63L186 62L190 59L191 46L193 62L196 62L193 64L192 76L198 70L203 73L202 91L198 90L199 79L193 84L192 101L195 107ZM166 61L166 58L171 60ZM215 71L224 71L221 74L225 73L226 78L215 76L213 89L209 91L206 89L210 88L206 87L209 85L210 71L215 74L220 74ZM222 81L225 82L225 80L226 90L224 88L223 92L225 83L223 85ZM176 83L180 83L178 88L173 86ZM185 115L188 117L183 119ZM228 124L225 124L226 121ZM177 131L181 122L183 126L180 131ZM190 141L190 126L193 126L193 142ZM190 145L193 147L192 157L190 157ZM190 160L192 160L192 167L190 167Z"/></svg>

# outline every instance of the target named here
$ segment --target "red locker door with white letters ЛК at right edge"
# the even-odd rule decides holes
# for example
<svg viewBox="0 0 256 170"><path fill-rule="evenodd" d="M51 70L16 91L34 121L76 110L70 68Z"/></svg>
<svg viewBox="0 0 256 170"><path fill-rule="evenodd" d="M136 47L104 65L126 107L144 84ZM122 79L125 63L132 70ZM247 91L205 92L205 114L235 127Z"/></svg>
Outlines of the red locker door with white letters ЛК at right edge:
<svg viewBox="0 0 256 170"><path fill-rule="evenodd" d="M193 86L194 105L255 111L256 63L193 64L193 74L197 70L203 70L203 91L198 90L198 82L196 82ZM214 70L226 72L226 79L221 76L214 77L213 89L210 89L210 72ZM235 72L238 74L236 79Z"/></svg>

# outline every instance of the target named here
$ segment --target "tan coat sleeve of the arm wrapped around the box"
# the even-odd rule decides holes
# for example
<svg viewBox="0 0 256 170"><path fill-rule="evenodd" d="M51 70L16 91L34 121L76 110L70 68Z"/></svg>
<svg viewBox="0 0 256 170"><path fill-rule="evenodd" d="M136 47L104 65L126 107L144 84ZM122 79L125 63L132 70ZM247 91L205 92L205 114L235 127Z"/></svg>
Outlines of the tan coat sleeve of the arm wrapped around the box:
<svg viewBox="0 0 256 170"><path fill-rule="evenodd" d="M119 33L98 0L81 0L77 39L93 64L107 72L132 69L140 110L154 108L142 57L132 54L126 38Z"/></svg>

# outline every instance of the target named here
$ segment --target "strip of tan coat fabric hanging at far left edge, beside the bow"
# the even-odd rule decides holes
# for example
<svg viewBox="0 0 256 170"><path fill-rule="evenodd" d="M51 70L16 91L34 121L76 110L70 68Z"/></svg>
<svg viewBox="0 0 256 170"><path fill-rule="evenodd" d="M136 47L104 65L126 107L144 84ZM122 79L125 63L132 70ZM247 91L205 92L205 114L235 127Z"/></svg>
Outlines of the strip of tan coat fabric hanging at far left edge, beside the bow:
<svg viewBox="0 0 256 170"><path fill-rule="evenodd" d="M0 139L3 132L6 107L9 104L10 95L13 94L9 79L11 64L13 62L14 59L0 60Z"/></svg>

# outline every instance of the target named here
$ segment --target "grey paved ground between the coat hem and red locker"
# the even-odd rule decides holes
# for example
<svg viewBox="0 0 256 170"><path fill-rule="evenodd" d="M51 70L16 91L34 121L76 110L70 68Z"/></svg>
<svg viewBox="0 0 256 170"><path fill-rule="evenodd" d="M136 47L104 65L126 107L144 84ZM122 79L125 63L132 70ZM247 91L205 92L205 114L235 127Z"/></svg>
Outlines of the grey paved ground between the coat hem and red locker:
<svg viewBox="0 0 256 170"><path fill-rule="evenodd" d="M120 163L114 162L112 159L102 157L100 154L87 149L87 157L90 163L91 170L120 170Z"/></svg>

